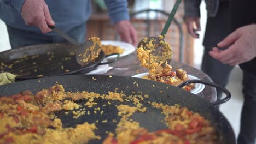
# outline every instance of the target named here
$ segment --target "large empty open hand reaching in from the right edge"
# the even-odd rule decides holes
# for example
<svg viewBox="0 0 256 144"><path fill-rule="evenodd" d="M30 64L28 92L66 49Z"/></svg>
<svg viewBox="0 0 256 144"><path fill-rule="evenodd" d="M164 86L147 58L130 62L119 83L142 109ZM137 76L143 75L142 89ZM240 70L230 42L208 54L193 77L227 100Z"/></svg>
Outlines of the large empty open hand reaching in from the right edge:
<svg viewBox="0 0 256 144"><path fill-rule="evenodd" d="M228 49L223 51L213 47L209 55L232 66L251 61L256 57L256 25L240 27L218 43L218 47L226 46Z"/></svg>

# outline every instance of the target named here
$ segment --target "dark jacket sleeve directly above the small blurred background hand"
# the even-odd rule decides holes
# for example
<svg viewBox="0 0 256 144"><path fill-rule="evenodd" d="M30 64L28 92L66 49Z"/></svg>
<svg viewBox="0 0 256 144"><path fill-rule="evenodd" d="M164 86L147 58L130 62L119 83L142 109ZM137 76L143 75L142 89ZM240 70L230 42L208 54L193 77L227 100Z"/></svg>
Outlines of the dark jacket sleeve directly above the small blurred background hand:
<svg viewBox="0 0 256 144"><path fill-rule="evenodd" d="M185 0L185 17L200 17L201 0Z"/></svg>

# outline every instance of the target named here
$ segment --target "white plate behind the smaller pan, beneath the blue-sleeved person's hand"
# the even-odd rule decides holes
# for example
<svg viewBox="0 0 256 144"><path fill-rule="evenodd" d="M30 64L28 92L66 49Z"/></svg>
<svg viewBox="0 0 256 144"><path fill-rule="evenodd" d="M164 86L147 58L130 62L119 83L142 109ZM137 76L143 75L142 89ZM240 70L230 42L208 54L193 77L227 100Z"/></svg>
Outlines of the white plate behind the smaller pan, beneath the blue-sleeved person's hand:
<svg viewBox="0 0 256 144"><path fill-rule="evenodd" d="M113 40L102 40L101 41L102 45L114 45L114 46L119 46L121 49L124 49L124 52L120 55L120 57L127 56L134 52L136 50L135 46L125 43L123 41L113 41ZM116 56L110 56L107 57L107 60L114 59Z"/></svg>

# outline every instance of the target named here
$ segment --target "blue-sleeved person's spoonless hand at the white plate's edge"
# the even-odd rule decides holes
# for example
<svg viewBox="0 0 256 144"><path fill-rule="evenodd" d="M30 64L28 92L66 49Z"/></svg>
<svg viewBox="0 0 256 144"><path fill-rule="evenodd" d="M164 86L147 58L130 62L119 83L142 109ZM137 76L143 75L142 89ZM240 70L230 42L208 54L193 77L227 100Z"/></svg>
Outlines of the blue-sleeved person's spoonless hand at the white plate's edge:
<svg viewBox="0 0 256 144"><path fill-rule="evenodd" d="M127 43L131 43L135 46L137 45L137 33L130 21L119 21L114 24L114 27L117 29L122 41L126 41Z"/></svg>

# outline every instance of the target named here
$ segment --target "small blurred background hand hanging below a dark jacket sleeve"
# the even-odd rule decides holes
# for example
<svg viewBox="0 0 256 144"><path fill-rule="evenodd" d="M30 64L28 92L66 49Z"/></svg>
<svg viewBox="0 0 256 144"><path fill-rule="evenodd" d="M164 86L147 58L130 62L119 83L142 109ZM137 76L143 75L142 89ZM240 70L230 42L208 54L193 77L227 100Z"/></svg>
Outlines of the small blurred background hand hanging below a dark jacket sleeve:
<svg viewBox="0 0 256 144"><path fill-rule="evenodd" d="M188 31L190 35L193 38L199 38L199 34L197 34L197 31L201 31L201 25L200 25L200 17L186 17L185 22L188 28ZM195 28L194 28L195 23Z"/></svg>

